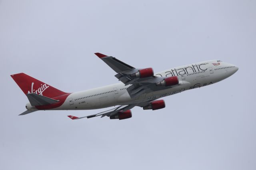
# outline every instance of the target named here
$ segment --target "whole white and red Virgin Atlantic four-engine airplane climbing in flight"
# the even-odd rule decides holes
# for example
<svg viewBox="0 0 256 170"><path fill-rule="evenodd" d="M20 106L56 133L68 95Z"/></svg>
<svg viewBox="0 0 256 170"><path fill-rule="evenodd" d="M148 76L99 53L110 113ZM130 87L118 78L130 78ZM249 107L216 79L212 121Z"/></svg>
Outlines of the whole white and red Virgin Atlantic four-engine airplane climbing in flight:
<svg viewBox="0 0 256 170"><path fill-rule="evenodd" d="M230 77L236 65L220 60L209 60L183 65L154 74L152 68L138 69L112 56L95 53L112 68L120 83L74 93L65 93L25 73L11 75L28 97L26 115L39 110L89 110L114 107L94 115L71 119L109 117L128 119L133 107L158 110L165 107L162 97L204 87ZM117 107L116 107L117 106Z"/></svg>

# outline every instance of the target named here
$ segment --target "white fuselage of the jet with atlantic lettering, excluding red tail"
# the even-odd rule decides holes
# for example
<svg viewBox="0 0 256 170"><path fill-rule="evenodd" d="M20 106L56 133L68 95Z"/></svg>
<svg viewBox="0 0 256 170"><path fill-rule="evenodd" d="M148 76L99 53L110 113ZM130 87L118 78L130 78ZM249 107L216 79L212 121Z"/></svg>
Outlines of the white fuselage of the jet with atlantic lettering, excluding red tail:
<svg viewBox="0 0 256 170"><path fill-rule="evenodd" d="M124 83L116 83L95 89L71 93L66 101L51 110L87 110L100 109L116 105L129 105L142 101L151 101L161 97L174 95L186 90L203 87L226 79L238 70L235 65L217 60L204 61L190 65L175 67L156 73L158 77L178 76L179 84L168 89L144 93L131 99Z"/></svg>

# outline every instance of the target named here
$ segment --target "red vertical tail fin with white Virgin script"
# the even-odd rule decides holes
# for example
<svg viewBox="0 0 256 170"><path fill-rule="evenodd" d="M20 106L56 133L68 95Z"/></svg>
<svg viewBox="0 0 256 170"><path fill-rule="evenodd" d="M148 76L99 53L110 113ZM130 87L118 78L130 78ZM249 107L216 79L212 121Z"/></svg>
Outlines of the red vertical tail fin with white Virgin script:
<svg viewBox="0 0 256 170"><path fill-rule="evenodd" d="M11 77L25 94L36 93L50 98L66 94L42 81L26 75L25 73L14 74L11 75Z"/></svg>

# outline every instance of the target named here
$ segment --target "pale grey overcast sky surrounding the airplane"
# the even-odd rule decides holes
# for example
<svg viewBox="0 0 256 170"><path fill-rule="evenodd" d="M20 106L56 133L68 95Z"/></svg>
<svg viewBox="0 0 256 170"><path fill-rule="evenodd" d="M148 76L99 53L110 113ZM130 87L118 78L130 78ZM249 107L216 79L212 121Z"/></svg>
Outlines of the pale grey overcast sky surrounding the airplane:
<svg viewBox="0 0 256 170"><path fill-rule="evenodd" d="M255 0L0 0L0 169L255 170L255 9ZM239 70L122 121L67 117L104 109L18 116L28 99L11 74L65 92L117 83L95 52L155 72L210 59Z"/></svg>

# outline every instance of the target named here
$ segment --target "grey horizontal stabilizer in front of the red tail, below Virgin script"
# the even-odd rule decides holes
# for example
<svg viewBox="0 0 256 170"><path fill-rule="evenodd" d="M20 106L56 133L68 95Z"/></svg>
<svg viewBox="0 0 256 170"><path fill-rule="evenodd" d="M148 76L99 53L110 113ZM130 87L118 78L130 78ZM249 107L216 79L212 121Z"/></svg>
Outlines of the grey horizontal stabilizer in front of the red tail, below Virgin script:
<svg viewBox="0 0 256 170"><path fill-rule="evenodd" d="M36 93L28 93L26 96L28 97L28 100L32 106L44 106L58 102L58 100L38 95Z"/></svg>

